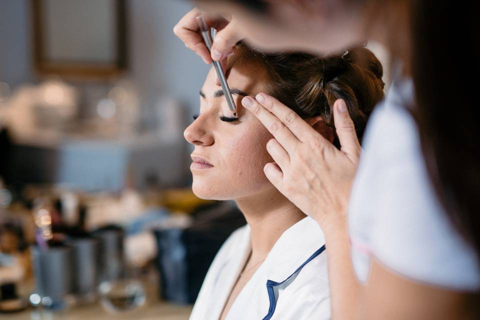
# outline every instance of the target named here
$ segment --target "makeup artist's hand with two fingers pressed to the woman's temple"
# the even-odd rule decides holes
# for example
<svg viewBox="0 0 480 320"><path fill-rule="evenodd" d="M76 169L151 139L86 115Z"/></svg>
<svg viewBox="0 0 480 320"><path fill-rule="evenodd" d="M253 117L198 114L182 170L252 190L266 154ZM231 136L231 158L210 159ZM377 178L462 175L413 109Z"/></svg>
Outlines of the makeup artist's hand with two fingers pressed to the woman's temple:
<svg viewBox="0 0 480 320"><path fill-rule="evenodd" d="M268 180L320 226L344 221L361 151L345 102L333 105L341 150L268 94L246 96L242 104L274 136L266 145L275 161L264 167Z"/></svg>

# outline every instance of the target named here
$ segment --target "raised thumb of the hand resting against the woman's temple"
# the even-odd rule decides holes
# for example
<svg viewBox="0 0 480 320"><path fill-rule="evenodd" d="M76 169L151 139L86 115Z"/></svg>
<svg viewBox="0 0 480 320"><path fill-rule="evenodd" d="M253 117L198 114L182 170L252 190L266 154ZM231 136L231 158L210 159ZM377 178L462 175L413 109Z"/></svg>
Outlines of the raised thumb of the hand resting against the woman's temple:
<svg viewBox="0 0 480 320"><path fill-rule="evenodd" d="M357 162L361 146L356 136L355 124L348 114L346 103L343 99L337 99L333 103L333 120L335 122L336 135L343 151L352 162Z"/></svg>

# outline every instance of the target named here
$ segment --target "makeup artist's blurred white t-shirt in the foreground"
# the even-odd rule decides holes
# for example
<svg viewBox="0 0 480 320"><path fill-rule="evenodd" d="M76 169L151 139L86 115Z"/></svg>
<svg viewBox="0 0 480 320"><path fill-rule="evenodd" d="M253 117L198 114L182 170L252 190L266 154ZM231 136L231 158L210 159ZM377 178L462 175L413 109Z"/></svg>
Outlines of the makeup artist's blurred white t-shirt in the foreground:
<svg viewBox="0 0 480 320"><path fill-rule="evenodd" d="M427 175L407 109L413 94L410 79L394 81L365 132L348 211L355 272L366 281L374 256L414 280L480 289L476 254L450 224Z"/></svg>

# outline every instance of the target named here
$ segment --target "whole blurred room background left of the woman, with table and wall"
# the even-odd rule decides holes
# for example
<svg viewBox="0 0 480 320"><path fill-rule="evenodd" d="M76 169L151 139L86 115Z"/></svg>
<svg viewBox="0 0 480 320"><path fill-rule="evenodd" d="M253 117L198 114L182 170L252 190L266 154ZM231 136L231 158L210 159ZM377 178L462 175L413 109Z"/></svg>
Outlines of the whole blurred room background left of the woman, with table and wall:
<svg viewBox="0 0 480 320"><path fill-rule="evenodd" d="M0 317L186 319L244 224L190 191L179 0L0 1Z"/></svg>

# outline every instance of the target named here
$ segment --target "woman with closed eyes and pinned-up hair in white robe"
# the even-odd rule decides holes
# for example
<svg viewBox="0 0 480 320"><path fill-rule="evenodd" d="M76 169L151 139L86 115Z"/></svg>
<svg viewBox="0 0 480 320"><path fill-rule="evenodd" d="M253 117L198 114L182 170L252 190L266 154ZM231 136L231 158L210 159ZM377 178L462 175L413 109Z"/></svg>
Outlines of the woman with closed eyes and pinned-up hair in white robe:
<svg viewBox="0 0 480 320"><path fill-rule="evenodd" d="M236 116L211 68L199 114L184 136L194 144L193 192L233 199L247 225L218 251L190 319L329 319L323 233L265 177L263 166L272 161L266 148L274 140L240 100L268 92L338 145L332 108L343 99L361 140L371 109L383 97L381 64L365 48L325 58L263 54L244 44L237 49L226 67Z"/></svg>

